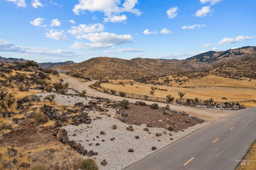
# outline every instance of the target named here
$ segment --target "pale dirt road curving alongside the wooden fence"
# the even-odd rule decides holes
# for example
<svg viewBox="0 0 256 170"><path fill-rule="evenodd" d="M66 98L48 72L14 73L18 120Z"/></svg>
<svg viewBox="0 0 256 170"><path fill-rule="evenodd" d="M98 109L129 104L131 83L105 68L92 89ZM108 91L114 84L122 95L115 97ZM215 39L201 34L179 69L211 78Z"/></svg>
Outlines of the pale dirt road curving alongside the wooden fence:
<svg viewBox="0 0 256 170"><path fill-rule="evenodd" d="M159 107L166 106L166 103L155 102L155 101L144 101L144 100L140 100L140 99L124 98L124 97L120 97L120 96L110 95L108 93L102 93L100 91L96 91L96 89L91 89L90 87L88 87L89 85L95 83L95 81L84 82L84 79L70 77L70 76L68 76L66 74L62 74L62 73L60 73L60 76L66 82L68 82L72 88L74 88L80 92L82 90L86 90L86 95L88 95L88 96L102 97L102 98L110 99L113 101L122 101L123 99L127 99L130 101L130 103L135 103L136 101L143 101L146 104L158 103ZM170 104L170 108L174 109L176 111L184 111L186 113L189 113L190 115L199 117L200 119L203 119L205 121L218 121L228 115L233 115L234 113L239 112L239 111L224 111L224 110L215 110L215 109L194 108L194 107L186 107L186 106L175 105L175 104Z"/></svg>

